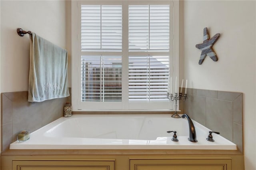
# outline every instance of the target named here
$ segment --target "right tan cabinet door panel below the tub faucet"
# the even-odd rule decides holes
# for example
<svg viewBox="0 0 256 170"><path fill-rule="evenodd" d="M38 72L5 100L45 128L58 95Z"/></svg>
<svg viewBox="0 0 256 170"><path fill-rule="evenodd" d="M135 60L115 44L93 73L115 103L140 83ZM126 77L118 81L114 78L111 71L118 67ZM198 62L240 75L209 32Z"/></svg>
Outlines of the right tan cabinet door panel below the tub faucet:
<svg viewBox="0 0 256 170"><path fill-rule="evenodd" d="M130 170L231 170L231 158L130 159Z"/></svg>

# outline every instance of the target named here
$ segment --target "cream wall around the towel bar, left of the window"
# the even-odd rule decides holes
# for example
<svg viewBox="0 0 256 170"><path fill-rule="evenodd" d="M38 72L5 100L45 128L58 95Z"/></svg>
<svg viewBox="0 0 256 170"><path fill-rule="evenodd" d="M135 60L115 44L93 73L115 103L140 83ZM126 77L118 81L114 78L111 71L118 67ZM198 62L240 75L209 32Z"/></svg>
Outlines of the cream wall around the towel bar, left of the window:
<svg viewBox="0 0 256 170"><path fill-rule="evenodd" d="M1 92L28 90L29 36L18 36L16 29L30 30L66 48L65 10L61 0L1 0Z"/></svg>

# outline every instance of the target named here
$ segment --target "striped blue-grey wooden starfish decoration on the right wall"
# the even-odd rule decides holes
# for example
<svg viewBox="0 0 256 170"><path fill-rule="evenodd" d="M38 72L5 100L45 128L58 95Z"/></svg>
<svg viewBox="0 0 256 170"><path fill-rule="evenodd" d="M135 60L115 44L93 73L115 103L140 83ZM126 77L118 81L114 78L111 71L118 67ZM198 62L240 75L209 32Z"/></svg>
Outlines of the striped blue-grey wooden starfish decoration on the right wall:
<svg viewBox="0 0 256 170"><path fill-rule="evenodd" d="M214 50L212 49L212 45L218 40L220 34L215 34L211 39L209 39L208 30L204 28L204 42L196 44L198 49L202 50L200 55L199 64L201 65L204 61L206 55L208 55L213 61L218 61L218 57Z"/></svg>

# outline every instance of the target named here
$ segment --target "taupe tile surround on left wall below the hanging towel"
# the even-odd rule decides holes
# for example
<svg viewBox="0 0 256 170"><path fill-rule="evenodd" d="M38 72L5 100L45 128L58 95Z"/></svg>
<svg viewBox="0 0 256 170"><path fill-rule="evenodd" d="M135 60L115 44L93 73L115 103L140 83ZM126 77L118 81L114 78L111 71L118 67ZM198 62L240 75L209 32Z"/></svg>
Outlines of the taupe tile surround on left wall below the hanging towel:
<svg viewBox="0 0 256 170"><path fill-rule="evenodd" d="M66 102L71 102L71 97L31 103L28 91L1 93L1 151L16 141L20 130L33 132L62 117Z"/></svg>

